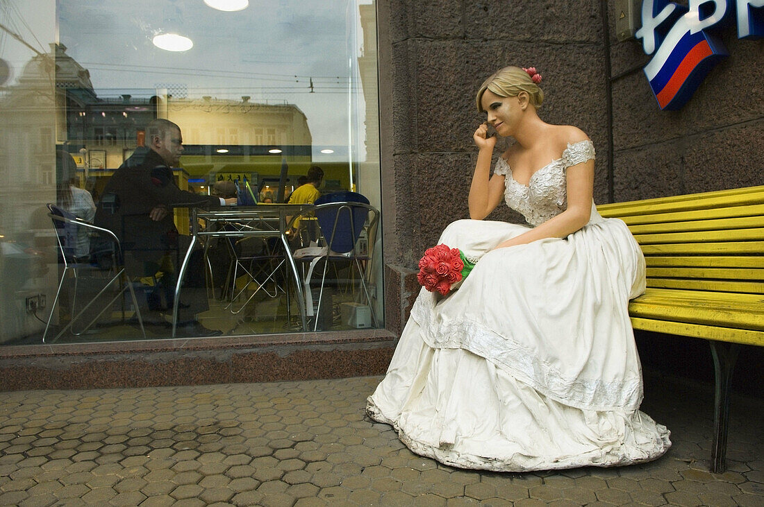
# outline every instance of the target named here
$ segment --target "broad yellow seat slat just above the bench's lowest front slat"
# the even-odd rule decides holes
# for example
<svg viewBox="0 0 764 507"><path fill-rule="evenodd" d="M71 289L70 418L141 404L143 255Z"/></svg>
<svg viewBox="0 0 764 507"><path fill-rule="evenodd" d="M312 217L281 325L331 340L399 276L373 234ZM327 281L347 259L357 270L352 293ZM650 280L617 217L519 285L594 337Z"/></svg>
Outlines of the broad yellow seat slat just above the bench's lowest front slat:
<svg viewBox="0 0 764 507"><path fill-rule="evenodd" d="M641 303L637 300L629 305L629 314L643 319L671 320L704 326L731 327L764 331L764 319L757 312L738 312L697 306L669 306Z"/></svg>

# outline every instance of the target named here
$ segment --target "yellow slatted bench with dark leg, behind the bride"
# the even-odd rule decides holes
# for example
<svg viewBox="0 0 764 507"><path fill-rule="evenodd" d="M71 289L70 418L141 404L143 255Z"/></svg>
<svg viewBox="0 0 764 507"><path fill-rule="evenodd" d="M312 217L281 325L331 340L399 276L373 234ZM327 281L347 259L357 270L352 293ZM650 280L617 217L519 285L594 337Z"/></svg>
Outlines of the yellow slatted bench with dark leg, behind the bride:
<svg viewBox="0 0 764 507"><path fill-rule="evenodd" d="M634 329L706 339L716 375L711 470L724 471L730 378L740 345L764 345L764 186L604 204L647 262Z"/></svg>

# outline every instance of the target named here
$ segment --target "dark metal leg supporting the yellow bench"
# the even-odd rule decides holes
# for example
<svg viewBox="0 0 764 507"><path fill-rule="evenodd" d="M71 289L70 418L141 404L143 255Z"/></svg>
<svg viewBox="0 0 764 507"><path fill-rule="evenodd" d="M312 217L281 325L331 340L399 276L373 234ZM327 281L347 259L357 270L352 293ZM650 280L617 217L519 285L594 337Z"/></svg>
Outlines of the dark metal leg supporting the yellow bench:
<svg viewBox="0 0 764 507"><path fill-rule="evenodd" d="M730 383L740 345L709 340L714 356L716 392L714 393L714 447L711 448L711 471L724 472L727 454L727 422L730 419Z"/></svg>

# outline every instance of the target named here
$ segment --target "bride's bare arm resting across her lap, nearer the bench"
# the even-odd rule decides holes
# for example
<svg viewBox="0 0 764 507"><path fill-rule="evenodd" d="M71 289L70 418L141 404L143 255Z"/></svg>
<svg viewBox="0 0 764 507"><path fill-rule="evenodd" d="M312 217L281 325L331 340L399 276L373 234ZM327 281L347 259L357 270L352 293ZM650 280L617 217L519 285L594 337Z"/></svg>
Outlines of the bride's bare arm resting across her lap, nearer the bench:
<svg viewBox="0 0 764 507"><path fill-rule="evenodd" d="M594 194L594 159L568 167L565 179L568 185L568 209L527 233L507 239L497 249L525 245L538 239L564 238L589 222Z"/></svg>

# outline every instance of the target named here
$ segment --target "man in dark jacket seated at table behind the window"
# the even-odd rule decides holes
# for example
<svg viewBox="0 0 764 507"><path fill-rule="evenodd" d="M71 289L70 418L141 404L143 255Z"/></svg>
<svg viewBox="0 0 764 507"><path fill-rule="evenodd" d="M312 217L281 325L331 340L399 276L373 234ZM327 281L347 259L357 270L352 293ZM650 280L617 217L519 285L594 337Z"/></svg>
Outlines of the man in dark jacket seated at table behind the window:
<svg viewBox="0 0 764 507"><path fill-rule="evenodd" d="M174 294L175 270L185 255L188 242L183 239L188 236L178 234L173 207L219 207L235 204L236 200L197 195L178 188L172 168L180 162L183 136L180 127L170 120L152 120L146 127L146 141L147 147L136 149L109 178L95 212L95 224L111 230L120 239L129 275L150 277L161 272L167 294ZM202 259L199 255L195 257L183 281L179 333L220 334L196 321L196 313L208 306ZM166 303L172 307L171 300Z"/></svg>

